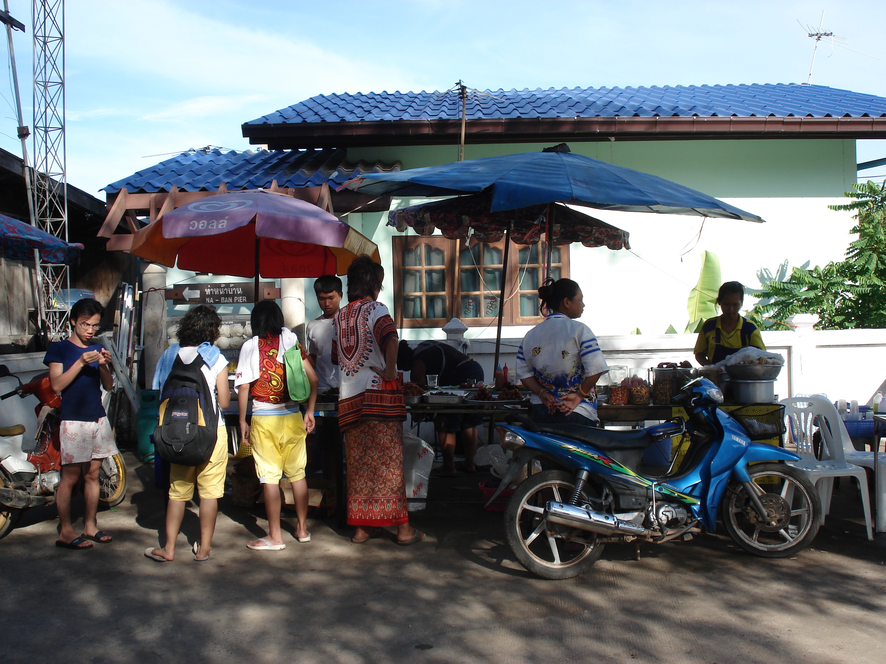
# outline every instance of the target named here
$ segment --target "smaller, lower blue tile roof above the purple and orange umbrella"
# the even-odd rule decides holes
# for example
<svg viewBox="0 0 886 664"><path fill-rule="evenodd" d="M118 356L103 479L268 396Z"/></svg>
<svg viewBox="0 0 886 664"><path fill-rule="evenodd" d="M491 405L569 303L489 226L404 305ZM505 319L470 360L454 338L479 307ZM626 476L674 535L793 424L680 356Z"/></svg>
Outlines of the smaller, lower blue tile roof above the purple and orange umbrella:
<svg viewBox="0 0 886 664"><path fill-rule="evenodd" d="M228 189L259 189L277 181L279 187L338 186L357 175L400 170L400 163L374 164L346 161L347 152L327 150L197 150L183 152L136 174L109 184L103 191L114 194L124 187L130 192L214 191L224 182Z"/></svg>

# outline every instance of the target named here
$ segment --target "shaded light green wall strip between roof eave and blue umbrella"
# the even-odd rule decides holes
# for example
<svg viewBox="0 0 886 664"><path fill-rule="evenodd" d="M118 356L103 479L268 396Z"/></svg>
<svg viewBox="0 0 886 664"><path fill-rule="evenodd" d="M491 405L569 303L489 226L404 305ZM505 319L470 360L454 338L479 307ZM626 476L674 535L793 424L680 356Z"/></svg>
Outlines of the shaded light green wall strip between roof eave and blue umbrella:
<svg viewBox="0 0 886 664"><path fill-rule="evenodd" d="M842 197L855 183L855 141L769 139L720 141L569 142L571 151L698 189L714 197ZM467 159L540 151L544 143L467 145ZM351 148L359 159L403 168L458 159L456 145Z"/></svg>

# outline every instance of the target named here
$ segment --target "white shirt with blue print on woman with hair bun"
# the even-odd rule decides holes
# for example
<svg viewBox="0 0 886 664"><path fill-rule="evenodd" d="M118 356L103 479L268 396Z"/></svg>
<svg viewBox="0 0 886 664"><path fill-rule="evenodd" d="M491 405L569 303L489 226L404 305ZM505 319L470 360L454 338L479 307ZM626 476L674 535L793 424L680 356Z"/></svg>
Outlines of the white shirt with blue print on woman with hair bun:
<svg viewBox="0 0 886 664"><path fill-rule="evenodd" d="M557 397L578 391L587 376L606 371L609 367L591 328L563 313L552 313L529 330L517 351L517 380L534 376ZM529 400L541 403L535 394ZM597 420L595 393L592 391L573 412Z"/></svg>

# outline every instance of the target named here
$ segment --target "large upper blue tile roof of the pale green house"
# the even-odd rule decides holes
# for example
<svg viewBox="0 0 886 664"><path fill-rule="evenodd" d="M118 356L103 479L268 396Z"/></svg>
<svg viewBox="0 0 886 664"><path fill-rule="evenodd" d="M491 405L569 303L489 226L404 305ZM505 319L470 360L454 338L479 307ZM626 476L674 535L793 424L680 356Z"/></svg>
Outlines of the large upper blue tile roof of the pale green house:
<svg viewBox="0 0 886 664"><path fill-rule="evenodd" d="M613 117L883 117L886 98L799 83L486 90L470 93L469 120ZM318 95L246 125L373 120L458 120L455 92Z"/></svg>

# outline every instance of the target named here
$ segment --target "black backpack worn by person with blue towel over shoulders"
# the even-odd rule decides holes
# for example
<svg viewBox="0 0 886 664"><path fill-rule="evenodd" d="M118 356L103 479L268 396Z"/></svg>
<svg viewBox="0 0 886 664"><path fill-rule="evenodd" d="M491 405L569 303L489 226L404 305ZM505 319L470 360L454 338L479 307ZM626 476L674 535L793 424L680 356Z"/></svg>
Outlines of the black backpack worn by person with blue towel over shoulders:
<svg viewBox="0 0 886 664"><path fill-rule="evenodd" d="M218 413L213 406L215 386L209 386L201 371L205 366L199 355L190 364L176 355L163 383L154 448L164 461L199 466L212 456Z"/></svg>

